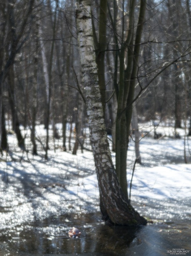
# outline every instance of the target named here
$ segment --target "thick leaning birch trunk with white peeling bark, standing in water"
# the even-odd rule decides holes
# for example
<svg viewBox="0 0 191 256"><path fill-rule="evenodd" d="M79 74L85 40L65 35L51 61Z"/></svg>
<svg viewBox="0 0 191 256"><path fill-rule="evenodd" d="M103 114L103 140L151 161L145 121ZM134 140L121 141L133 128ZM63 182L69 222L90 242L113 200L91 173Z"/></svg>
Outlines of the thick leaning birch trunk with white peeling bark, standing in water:
<svg viewBox="0 0 191 256"><path fill-rule="evenodd" d="M77 0L77 31L84 78L84 93L89 117L90 141L99 185L100 208L108 223L118 225L146 224L123 194L109 150L92 35L91 4Z"/></svg>

